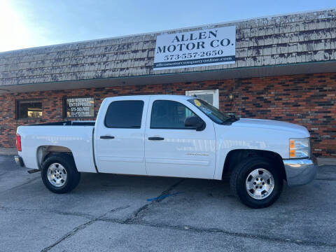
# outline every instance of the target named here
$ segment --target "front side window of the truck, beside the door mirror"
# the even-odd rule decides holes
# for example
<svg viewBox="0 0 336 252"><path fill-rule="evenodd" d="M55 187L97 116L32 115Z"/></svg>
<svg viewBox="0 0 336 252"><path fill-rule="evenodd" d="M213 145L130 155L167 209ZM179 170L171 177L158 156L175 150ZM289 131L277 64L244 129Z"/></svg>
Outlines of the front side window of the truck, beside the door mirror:
<svg viewBox="0 0 336 252"><path fill-rule="evenodd" d="M157 100L153 102L151 113L151 129L181 129L188 116L196 116L193 111L179 102Z"/></svg>

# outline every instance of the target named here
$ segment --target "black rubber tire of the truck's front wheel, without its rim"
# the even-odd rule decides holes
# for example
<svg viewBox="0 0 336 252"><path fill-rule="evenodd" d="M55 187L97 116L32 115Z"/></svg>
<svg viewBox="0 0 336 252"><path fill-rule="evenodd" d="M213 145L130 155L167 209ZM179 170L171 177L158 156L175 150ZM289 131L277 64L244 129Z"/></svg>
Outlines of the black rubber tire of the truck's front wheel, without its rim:
<svg viewBox="0 0 336 252"><path fill-rule="evenodd" d="M267 197L257 200L248 194L246 189L246 179L248 179L248 175L253 172L253 170L258 168L265 169L272 174L274 179L274 188L272 193L269 193ZM279 198L283 188L283 178L281 177L279 169L280 167L272 165L272 162L266 158L246 158L245 160L242 160L232 171L230 176L231 190L237 197L239 197L239 200L248 207L253 209L269 207ZM251 178L251 176L249 178Z"/></svg>

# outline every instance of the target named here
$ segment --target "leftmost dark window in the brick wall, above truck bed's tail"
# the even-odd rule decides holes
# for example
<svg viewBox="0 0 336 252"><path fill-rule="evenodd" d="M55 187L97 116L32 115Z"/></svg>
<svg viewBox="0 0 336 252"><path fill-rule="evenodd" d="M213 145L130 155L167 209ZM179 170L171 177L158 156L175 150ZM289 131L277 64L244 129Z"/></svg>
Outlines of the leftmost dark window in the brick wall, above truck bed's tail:
<svg viewBox="0 0 336 252"><path fill-rule="evenodd" d="M41 101L18 101L16 107L18 119L42 117Z"/></svg>

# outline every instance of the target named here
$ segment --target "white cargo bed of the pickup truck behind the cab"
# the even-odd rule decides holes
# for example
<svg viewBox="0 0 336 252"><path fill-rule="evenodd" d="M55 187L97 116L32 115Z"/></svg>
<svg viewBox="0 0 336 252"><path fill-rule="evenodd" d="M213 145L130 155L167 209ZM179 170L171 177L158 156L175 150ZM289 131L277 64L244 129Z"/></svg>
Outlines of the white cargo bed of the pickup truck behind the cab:
<svg viewBox="0 0 336 252"><path fill-rule="evenodd" d="M78 172L96 172L92 134L94 122L59 122L18 127L25 166L38 169L38 150L43 147L66 147L73 154Z"/></svg>

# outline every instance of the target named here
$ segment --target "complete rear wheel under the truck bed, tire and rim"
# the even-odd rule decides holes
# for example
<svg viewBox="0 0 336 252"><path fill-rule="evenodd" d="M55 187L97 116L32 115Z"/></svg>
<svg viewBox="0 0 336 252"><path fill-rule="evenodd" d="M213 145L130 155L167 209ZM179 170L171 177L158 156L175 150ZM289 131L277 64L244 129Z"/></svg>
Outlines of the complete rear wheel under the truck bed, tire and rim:
<svg viewBox="0 0 336 252"><path fill-rule="evenodd" d="M55 154L41 167L42 181L52 193L69 193L78 186L80 173L70 155Z"/></svg>

